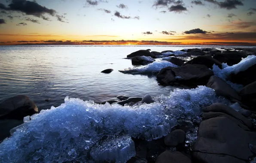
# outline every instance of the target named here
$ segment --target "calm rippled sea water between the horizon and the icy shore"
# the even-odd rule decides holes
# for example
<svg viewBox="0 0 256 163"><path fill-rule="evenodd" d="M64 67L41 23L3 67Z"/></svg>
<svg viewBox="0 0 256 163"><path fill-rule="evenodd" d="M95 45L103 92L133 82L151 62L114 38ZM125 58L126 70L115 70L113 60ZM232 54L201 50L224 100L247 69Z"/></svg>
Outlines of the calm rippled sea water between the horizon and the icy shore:
<svg viewBox="0 0 256 163"><path fill-rule="evenodd" d="M59 106L66 96L100 102L120 94L168 95L174 87L159 85L155 76L119 72L133 67L131 60L122 58L140 49L161 52L195 47L222 46L0 46L0 102L26 94L41 110ZM114 71L101 73L109 68ZM52 100L45 102L48 98Z"/></svg>

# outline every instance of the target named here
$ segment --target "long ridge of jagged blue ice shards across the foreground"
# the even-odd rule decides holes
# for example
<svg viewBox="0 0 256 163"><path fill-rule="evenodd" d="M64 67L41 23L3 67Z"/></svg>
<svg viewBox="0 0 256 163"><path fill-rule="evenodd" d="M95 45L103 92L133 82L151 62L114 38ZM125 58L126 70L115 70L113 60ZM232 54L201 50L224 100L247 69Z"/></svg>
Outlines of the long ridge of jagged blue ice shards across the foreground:
<svg viewBox="0 0 256 163"><path fill-rule="evenodd" d="M63 104L42 110L3 140L0 162L88 162L90 151L101 142L106 142L102 148L110 150L105 146L111 144L108 138L124 134L147 141L158 139L177 121L198 121L201 107L223 102L205 86L174 89L170 96L158 96L154 101L133 108L66 97ZM127 147L127 139L121 142Z"/></svg>

